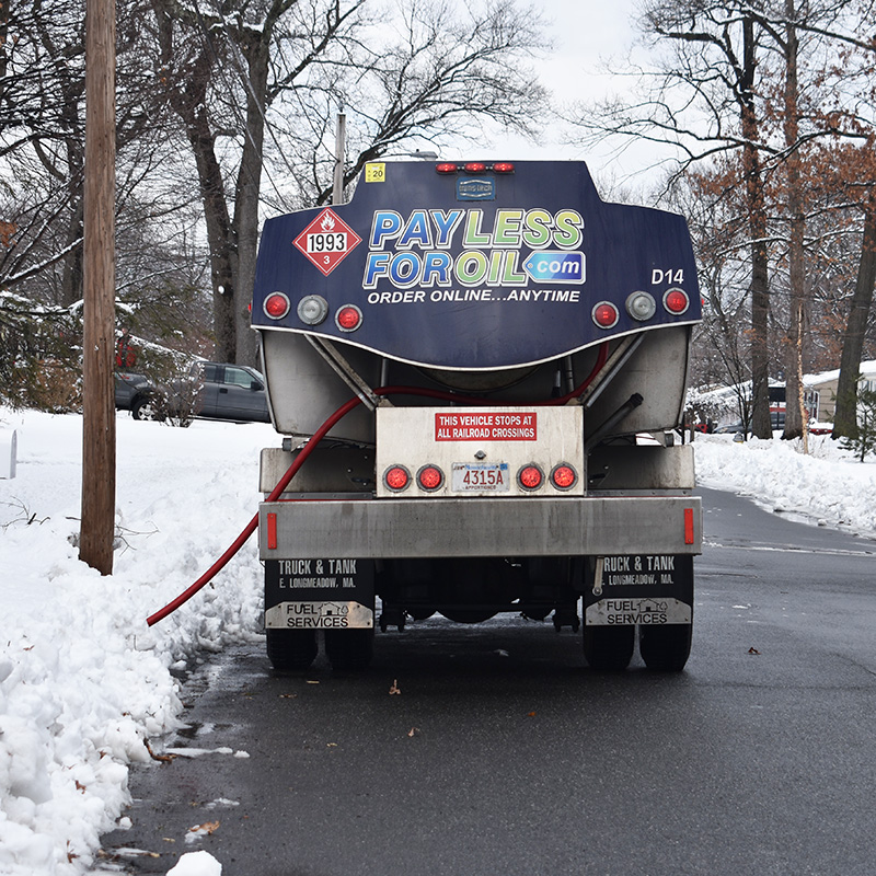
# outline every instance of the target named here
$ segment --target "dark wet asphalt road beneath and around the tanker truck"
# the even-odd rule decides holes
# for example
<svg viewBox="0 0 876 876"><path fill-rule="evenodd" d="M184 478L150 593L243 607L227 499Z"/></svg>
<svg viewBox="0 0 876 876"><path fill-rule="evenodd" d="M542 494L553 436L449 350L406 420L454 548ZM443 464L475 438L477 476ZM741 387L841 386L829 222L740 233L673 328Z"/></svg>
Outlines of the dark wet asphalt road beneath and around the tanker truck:
<svg viewBox="0 0 876 876"><path fill-rule="evenodd" d="M206 849L223 876L876 873L876 542L702 494L684 672L597 673L579 634L523 620L379 635L358 677L234 649L155 742L210 753L135 769L104 867Z"/></svg>

